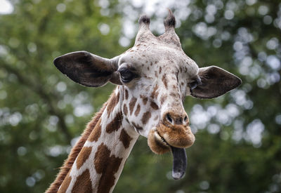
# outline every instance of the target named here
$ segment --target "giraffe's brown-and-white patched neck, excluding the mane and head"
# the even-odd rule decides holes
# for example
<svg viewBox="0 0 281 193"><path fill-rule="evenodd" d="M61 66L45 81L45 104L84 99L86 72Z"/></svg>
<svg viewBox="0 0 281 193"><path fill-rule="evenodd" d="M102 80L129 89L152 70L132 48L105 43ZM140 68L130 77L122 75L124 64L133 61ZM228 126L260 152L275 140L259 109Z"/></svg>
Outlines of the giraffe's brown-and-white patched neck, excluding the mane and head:
<svg viewBox="0 0 281 193"><path fill-rule="evenodd" d="M118 88L112 93L58 192L106 193L114 189L138 138L138 133L123 118L123 94Z"/></svg>

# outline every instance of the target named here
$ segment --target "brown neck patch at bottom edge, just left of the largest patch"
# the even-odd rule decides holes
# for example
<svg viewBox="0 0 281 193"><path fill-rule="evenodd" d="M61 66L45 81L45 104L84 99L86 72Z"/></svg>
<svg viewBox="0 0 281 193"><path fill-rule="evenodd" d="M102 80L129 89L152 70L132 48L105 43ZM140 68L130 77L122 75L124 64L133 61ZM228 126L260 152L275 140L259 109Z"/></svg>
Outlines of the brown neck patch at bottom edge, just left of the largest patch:
<svg viewBox="0 0 281 193"><path fill-rule="evenodd" d="M78 176L72 192L93 192L89 169Z"/></svg>

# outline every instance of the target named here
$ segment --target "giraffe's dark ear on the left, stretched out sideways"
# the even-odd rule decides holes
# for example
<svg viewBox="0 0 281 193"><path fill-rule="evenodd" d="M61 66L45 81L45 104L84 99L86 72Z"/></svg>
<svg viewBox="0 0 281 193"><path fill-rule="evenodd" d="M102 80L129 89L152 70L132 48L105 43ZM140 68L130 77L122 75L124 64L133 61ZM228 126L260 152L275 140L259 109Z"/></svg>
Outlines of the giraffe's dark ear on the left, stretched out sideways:
<svg viewBox="0 0 281 193"><path fill-rule="evenodd" d="M86 51L67 53L53 60L55 67L78 84L103 86L107 81L122 84L119 79L119 56L107 59Z"/></svg>

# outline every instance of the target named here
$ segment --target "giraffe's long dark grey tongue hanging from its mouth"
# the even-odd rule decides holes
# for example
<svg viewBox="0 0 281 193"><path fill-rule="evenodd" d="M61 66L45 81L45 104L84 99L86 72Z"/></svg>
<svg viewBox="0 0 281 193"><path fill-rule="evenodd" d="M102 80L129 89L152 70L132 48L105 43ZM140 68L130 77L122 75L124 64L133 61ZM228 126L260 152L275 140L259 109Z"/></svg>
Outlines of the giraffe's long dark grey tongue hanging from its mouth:
<svg viewBox="0 0 281 193"><path fill-rule="evenodd" d="M185 174L188 157L186 157L184 148L171 146L171 152L173 152L174 157L172 176L175 180L179 180Z"/></svg>

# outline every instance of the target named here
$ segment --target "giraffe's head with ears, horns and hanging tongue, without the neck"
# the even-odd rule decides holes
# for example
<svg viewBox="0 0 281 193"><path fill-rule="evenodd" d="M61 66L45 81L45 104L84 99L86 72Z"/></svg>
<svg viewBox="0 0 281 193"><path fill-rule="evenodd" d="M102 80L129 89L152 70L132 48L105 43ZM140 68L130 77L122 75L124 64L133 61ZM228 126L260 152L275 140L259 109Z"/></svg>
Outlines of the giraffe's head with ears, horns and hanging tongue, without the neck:
<svg viewBox="0 0 281 193"><path fill-rule="evenodd" d="M174 154L174 178L183 176L186 147L195 142L183 100L216 98L236 88L241 80L219 67L202 67L181 48L174 31L176 20L169 11L165 33L150 32L150 18L139 19L136 42L125 53L112 59L86 51L55 58L63 74L84 86L103 86L108 81L120 85L120 108L131 128L146 138L152 152Z"/></svg>

